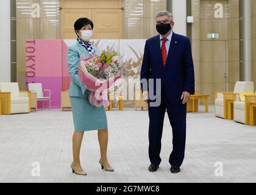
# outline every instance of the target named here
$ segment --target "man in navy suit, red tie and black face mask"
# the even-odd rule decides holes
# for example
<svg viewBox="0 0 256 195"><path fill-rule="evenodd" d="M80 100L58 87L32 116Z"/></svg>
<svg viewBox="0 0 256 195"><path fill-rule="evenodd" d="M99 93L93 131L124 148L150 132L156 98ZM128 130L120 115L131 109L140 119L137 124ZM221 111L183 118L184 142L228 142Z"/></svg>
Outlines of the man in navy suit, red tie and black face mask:
<svg viewBox="0 0 256 195"><path fill-rule="evenodd" d="M191 44L189 38L172 32L173 16L167 11L157 14L156 27L160 35L146 41L141 67L143 100L149 103L149 171L157 171L162 161L161 140L167 109L173 146L169 163L171 172L177 173L185 157L187 102L194 94ZM156 84L159 79L160 86ZM154 95L156 99L152 99ZM157 98L160 103L154 106Z"/></svg>

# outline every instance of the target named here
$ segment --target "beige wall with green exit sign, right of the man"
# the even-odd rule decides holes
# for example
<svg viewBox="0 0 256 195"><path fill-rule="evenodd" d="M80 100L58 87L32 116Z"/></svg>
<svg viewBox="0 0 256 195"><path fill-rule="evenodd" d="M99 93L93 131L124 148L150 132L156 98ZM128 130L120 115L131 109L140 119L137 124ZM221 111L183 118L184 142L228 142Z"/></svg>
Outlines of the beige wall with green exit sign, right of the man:
<svg viewBox="0 0 256 195"><path fill-rule="evenodd" d="M224 5L224 18L214 16L216 1L191 0L196 90L201 94L210 94L210 104L214 102L215 91L226 91L226 88L232 91L234 83L240 80L239 1L218 2ZM209 33L218 33L219 38L209 40Z"/></svg>

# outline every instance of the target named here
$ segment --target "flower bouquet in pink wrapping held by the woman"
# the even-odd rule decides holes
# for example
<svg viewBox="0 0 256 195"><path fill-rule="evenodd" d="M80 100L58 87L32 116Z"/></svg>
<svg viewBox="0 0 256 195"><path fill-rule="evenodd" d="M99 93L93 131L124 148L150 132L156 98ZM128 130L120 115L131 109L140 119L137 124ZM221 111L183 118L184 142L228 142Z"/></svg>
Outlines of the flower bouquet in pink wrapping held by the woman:
<svg viewBox="0 0 256 195"><path fill-rule="evenodd" d="M100 107L103 104L109 105L104 91L121 78L121 70L123 68L118 63L118 60L113 59L114 56L115 53L106 55L105 52L102 52L101 56L93 55L80 62L80 76L82 82L91 91L88 97L91 105L96 107Z"/></svg>

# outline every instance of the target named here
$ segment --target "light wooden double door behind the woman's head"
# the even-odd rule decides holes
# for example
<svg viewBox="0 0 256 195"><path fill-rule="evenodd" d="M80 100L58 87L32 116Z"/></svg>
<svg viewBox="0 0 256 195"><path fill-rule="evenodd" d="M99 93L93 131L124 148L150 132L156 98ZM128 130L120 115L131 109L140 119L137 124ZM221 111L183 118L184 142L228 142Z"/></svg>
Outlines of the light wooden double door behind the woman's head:
<svg viewBox="0 0 256 195"><path fill-rule="evenodd" d="M93 39L123 39L123 0L62 0L60 1L62 39L74 39L74 22L87 17L93 21Z"/></svg>

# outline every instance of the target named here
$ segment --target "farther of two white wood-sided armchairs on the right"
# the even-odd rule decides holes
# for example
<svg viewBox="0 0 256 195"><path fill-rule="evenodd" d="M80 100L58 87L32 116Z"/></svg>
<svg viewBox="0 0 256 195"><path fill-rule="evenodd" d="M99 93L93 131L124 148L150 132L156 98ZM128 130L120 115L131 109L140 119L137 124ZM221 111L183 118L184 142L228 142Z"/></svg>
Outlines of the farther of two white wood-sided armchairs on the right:
<svg viewBox="0 0 256 195"><path fill-rule="evenodd" d="M227 119L226 99L240 101L239 93L254 91L254 82L236 82L233 92L215 92L215 116Z"/></svg>

